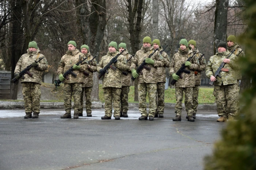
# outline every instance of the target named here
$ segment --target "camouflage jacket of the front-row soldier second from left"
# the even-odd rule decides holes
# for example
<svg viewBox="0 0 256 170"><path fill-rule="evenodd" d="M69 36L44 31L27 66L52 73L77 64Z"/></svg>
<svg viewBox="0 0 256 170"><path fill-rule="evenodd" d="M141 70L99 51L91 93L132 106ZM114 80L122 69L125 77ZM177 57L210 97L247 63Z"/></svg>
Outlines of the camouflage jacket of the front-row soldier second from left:
<svg viewBox="0 0 256 170"><path fill-rule="evenodd" d="M78 49L73 51L67 51L64 56L61 57L57 74L64 74L66 71L69 70L69 68L73 67L74 64L82 61L85 58L85 56L79 52ZM73 70L73 72L77 75L76 77L72 76L71 74L68 75L68 80L65 79L63 83L83 83L84 82L84 75L83 71L85 71L88 68L88 65L86 62L83 62L80 64L81 68L80 70Z"/></svg>

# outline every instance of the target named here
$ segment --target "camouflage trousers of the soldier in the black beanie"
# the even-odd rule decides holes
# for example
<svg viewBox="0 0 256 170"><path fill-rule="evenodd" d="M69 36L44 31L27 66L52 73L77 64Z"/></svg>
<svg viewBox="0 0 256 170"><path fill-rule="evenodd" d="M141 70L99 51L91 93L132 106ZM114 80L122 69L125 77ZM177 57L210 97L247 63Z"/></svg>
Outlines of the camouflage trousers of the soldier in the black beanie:
<svg viewBox="0 0 256 170"><path fill-rule="evenodd" d="M238 90L237 84L214 86L213 95L216 98L219 116L237 115Z"/></svg>

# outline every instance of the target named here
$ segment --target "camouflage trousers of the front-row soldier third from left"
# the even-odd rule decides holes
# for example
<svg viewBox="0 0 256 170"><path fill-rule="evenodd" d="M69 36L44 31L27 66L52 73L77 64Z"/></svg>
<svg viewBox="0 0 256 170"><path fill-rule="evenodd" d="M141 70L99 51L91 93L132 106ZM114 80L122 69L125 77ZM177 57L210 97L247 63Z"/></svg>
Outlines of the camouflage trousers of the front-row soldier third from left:
<svg viewBox="0 0 256 170"><path fill-rule="evenodd" d="M105 99L105 115L112 116L112 101L114 108L114 116L120 116L120 94L121 88L105 87L103 88Z"/></svg>

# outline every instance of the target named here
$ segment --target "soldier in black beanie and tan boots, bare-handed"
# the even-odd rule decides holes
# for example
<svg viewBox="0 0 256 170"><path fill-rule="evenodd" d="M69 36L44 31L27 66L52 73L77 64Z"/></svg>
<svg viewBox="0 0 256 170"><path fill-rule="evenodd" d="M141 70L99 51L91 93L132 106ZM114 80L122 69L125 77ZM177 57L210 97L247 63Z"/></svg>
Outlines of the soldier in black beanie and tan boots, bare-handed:
<svg viewBox="0 0 256 170"><path fill-rule="evenodd" d="M218 44L218 52L210 57L206 66L206 76L214 82L213 95L216 98L217 112L220 116L217 122L226 122L227 118L234 119L237 114L238 86L237 74L234 70L239 68L236 64L238 58L232 54L229 59L226 59L229 54L227 44L221 41ZM227 69L220 73L221 78L219 76L215 78L214 74L222 62L226 63L223 68Z"/></svg>

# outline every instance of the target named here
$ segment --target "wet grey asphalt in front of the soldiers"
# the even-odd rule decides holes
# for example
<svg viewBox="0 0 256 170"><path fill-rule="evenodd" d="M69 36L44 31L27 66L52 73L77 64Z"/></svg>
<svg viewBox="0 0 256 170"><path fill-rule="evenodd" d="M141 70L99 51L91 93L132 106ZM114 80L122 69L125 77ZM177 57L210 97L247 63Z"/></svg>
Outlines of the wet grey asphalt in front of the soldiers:
<svg viewBox="0 0 256 170"><path fill-rule="evenodd" d="M226 123L217 111L199 110L195 122L173 122L174 110L164 118L60 119L63 109L42 109L38 119L24 119L24 110L0 110L0 170L202 170L204 157ZM84 115L86 112L84 111Z"/></svg>

